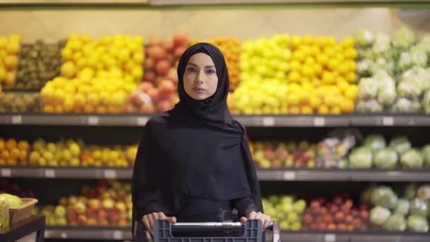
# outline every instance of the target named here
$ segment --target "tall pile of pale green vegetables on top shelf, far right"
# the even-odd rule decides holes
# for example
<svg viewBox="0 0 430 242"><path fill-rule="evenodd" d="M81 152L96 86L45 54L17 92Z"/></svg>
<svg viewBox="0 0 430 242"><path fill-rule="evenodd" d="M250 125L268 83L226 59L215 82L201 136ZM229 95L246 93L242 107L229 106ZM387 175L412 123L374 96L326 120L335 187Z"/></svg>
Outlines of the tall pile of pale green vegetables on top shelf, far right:
<svg viewBox="0 0 430 242"><path fill-rule="evenodd" d="M393 36L360 30L359 113L430 113L430 35L400 28Z"/></svg>

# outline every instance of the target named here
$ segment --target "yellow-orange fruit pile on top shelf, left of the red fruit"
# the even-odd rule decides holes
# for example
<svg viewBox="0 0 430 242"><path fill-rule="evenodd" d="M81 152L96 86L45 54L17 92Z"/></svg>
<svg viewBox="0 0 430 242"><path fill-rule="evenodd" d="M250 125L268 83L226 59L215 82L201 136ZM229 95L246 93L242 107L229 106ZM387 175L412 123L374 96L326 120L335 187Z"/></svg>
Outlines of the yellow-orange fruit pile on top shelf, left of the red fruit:
<svg viewBox="0 0 430 242"><path fill-rule="evenodd" d="M40 93L46 113L122 113L128 94L141 81L144 39L129 35L69 36L62 50L62 77Z"/></svg>

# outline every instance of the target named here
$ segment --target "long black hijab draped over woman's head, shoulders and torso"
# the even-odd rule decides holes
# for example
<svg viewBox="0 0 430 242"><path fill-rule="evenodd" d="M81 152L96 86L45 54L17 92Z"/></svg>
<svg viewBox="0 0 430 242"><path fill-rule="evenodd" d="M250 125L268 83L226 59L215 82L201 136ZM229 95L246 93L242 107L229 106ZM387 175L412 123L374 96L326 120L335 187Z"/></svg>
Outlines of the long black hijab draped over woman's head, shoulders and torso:
<svg viewBox="0 0 430 242"><path fill-rule="evenodd" d="M216 92L206 100L194 100L183 86L188 60L200 52L214 61L219 79ZM178 79L179 103L146 124L134 165L134 204L139 202L142 211L145 204L154 202L154 197L142 192L151 187L211 200L249 196L263 212L245 128L227 108L229 79L223 54L209 43L192 45L180 57ZM174 200L182 202L182 198ZM174 214L178 206L164 201L161 212Z"/></svg>

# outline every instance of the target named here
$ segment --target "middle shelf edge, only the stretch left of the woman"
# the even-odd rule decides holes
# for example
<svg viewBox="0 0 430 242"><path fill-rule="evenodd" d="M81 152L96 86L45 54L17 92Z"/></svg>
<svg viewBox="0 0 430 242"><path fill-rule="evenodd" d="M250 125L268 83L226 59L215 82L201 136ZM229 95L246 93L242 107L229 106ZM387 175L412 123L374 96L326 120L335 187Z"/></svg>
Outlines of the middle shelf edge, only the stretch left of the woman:
<svg viewBox="0 0 430 242"><path fill-rule="evenodd" d="M131 179L132 168L1 167L2 178Z"/></svg>

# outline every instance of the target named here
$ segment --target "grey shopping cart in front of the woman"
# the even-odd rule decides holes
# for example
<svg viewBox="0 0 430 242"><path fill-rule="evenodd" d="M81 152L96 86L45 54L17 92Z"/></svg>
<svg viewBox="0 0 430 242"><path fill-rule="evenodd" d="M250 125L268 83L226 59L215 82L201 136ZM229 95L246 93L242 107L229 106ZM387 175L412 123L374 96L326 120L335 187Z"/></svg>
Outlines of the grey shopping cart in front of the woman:
<svg viewBox="0 0 430 242"><path fill-rule="evenodd" d="M136 222L134 242L265 242L265 231L259 219L240 222L202 222L170 224L168 220L154 222L151 237L141 222ZM222 231L222 233L220 233ZM271 221L272 242L281 242L277 221ZM216 236L214 236L216 234Z"/></svg>

